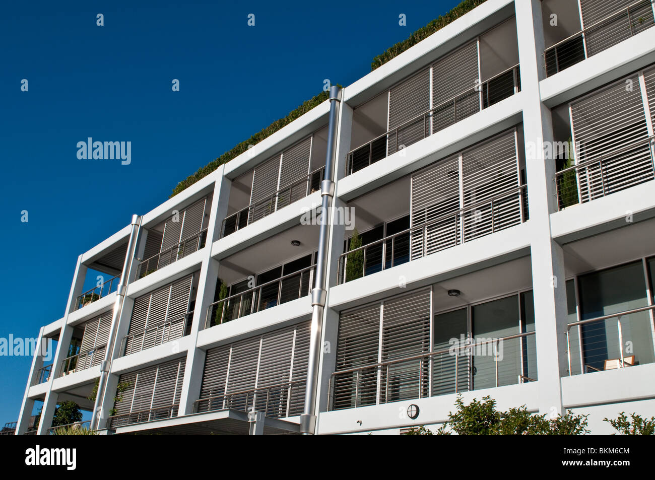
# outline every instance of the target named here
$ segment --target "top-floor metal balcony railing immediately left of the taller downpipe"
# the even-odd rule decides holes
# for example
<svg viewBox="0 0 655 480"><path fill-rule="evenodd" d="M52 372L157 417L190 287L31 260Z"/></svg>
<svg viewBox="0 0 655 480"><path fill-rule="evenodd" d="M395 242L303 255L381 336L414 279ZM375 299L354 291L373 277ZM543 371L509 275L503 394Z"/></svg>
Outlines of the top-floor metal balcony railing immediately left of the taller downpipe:
<svg viewBox="0 0 655 480"><path fill-rule="evenodd" d="M317 192L321 189L325 167L314 170L307 177L303 177L286 187L282 187L271 195L257 200L246 208L233 213L223 220L221 225L221 238L247 227L254 221L262 219L277 212L280 208L292 204L296 200Z"/></svg>

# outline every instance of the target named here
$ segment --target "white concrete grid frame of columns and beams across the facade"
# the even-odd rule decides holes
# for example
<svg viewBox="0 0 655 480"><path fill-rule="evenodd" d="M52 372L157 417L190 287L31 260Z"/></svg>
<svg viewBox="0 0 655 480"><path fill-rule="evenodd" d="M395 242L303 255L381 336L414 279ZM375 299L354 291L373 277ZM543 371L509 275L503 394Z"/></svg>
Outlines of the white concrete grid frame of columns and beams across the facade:
<svg viewBox="0 0 655 480"><path fill-rule="evenodd" d="M517 24L521 92L472 117L460 120L441 132L409 145L402 149L402 152L396 152L379 160L375 166L369 166L344 177L345 161L350 151L352 112L355 107L381 94L409 73L434 62L441 55L475 39L481 32L513 15L516 16ZM523 124L525 145L528 142L552 140L550 111L552 107L655 63L655 28L650 28L623 41L620 45L608 48L552 77L545 78L542 65L544 35L541 16L539 0L487 0L428 39L344 88L337 126L334 205L345 207L348 201L364 193L382 187L403 175L415 172L519 123ZM119 346L116 346L112 352L108 394L100 401L103 411L109 411L113 406L113 394L109 392L115 390L121 373L184 356L186 367L178 416L191 415L194 402L200 392L204 356L208 348L309 318L311 305L309 297L305 297L209 329L205 329L204 322L208 306L214 299L221 259L274 236L292 225L297 225L303 210L320 204L320 193L310 194L244 229L225 238L219 238L221 223L227 214L231 181L269 158L272 153L282 151L325 126L328 113L328 102L318 105L255 145L250 151L234 158L143 215L141 230L162 221L180 205L187 205L213 192L205 248L145 278L136 281L130 281L128 278L127 301L121 318L118 319L118 338L121 339L128 329L135 297L189 272L199 270L191 335L129 356L121 356ZM521 147L523 145L519 145L519 148ZM319 412L317 424L319 434L373 431L398 434L401 428L414 424L439 424L453 409L454 396L446 395L357 409L327 411L327 388L329 377L335 369L337 330L341 310L398 293L399 276L403 276L407 288L412 289L525 255L531 255L538 381L466 392L464 399L489 394L498 401L498 407L502 409L525 404L529 411L549 414L563 413L565 409L572 407L593 409L599 405L603 406L604 412L627 411L630 407L626 406L626 402L633 402L633 404L639 403L645 409L643 411L645 415L655 415L655 385L652 382L641 381L643 378L652 377L655 365L640 365L631 369L575 377L564 375L568 364L565 339L566 279L562 248L567 242L622 227L625 225L622 223L622 218L627 210L633 212L634 221L655 217L655 196L652 194L655 181L559 212L555 197L553 162L544 158L542 151L538 151L535 158L526 158L526 172L529 221L411 263L383 270L364 279L348 282L347 286L337 285L339 254L347 232L343 225L333 225L329 237L327 306L322 339L326 348L320 358L320 392L316 405L316 410ZM129 234L128 225L79 256L64 318L45 325L39 332L40 338L59 336L50 379L44 384L33 385L35 376L43 365L43 359L38 355L35 356L16 434L25 433L33 402L37 398L45 398L38 433L47 434L47 426L54 413L58 396L69 388L93 382L100 375L100 368L94 367L64 378L59 377L59 369L67 352L73 325L111 308L115 301L116 295L112 294L92 305L73 311L73 301L81 293L83 286L86 265L90 265L111 248L115 248L119 242L126 240ZM655 250L652 253L655 253ZM128 267L131 268L136 262L130 259L129 264ZM552 287L553 282L557 287ZM411 403L421 408L422 414L417 420L402 415ZM584 413L584 410L581 413ZM107 415L102 415L101 420L104 420ZM179 421L182 420L179 418ZM102 422L100 424L102 425ZM130 430L138 430L138 426L132 426ZM599 432L602 432L601 427Z"/></svg>

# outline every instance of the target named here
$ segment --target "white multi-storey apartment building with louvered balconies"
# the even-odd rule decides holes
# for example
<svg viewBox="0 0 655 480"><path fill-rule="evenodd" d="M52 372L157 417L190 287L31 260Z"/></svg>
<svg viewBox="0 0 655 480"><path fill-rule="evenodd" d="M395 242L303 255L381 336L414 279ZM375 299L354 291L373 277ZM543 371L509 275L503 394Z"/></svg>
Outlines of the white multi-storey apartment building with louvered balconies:
<svg viewBox="0 0 655 480"><path fill-rule="evenodd" d="M77 259L16 434L69 399L106 434L399 434L458 394L655 415L654 16L487 0L134 215Z"/></svg>

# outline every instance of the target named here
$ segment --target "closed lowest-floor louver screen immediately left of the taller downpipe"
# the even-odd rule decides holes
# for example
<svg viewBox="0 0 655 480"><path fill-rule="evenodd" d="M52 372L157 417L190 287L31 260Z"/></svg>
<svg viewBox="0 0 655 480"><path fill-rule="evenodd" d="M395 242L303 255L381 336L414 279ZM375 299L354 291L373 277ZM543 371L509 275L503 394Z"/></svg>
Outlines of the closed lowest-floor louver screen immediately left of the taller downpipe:
<svg viewBox="0 0 655 480"><path fill-rule="evenodd" d="M255 407L274 418L302 413L309 322L207 351L198 411Z"/></svg>

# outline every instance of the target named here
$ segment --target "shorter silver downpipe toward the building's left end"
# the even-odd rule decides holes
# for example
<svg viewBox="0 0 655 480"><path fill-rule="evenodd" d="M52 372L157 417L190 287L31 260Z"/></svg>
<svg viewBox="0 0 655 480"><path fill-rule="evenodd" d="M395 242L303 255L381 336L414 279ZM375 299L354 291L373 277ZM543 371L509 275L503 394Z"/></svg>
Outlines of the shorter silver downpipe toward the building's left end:
<svg viewBox="0 0 655 480"><path fill-rule="evenodd" d="M111 367L111 356L116 344L116 335L118 332L119 320L121 318L122 307L125 303L125 293L127 291L128 278L132 265L132 259L136 251L136 236L139 232L141 225L140 215L132 215L132 231L130 231L130 240L128 241L125 261L123 263L123 270L121 273L121 282L116 289L116 301L114 303L114 311L111 319L111 330L109 331L109 339L107 339L107 348L105 348L105 358L100 364L100 380L98 380L98 391L96 392L96 401L93 405L93 415L89 430L98 429L98 420L100 420L100 405L107 393L107 377L109 377L109 367Z"/></svg>

